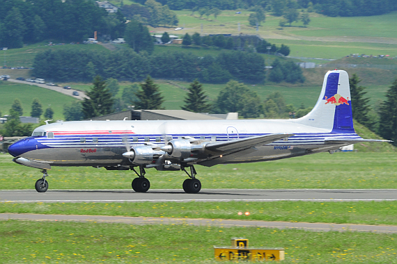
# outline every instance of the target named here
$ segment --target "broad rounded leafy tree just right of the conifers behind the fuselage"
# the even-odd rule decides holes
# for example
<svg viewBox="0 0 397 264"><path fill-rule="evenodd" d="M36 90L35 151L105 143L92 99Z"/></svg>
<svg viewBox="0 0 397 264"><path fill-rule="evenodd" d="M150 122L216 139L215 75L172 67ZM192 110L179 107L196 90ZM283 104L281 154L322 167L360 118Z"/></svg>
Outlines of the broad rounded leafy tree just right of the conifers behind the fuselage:
<svg viewBox="0 0 397 264"><path fill-rule="evenodd" d="M258 94L237 81L226 83L215 101L215 108L220 113L238 112L245 118L259 117L263 113Z"/></svg>

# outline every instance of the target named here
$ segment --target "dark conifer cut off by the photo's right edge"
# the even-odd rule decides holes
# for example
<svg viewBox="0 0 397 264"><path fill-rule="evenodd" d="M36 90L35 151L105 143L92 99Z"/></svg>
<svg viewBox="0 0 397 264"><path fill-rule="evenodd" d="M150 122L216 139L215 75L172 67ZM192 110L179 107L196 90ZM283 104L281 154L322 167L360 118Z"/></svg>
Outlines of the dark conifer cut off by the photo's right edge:
<svg viewBox="0 0 397 264"><path fill-rule="evenodd" d="M397 146L397 79L386 92L386 100L380 106L379 135L393 140Z"/></svg>

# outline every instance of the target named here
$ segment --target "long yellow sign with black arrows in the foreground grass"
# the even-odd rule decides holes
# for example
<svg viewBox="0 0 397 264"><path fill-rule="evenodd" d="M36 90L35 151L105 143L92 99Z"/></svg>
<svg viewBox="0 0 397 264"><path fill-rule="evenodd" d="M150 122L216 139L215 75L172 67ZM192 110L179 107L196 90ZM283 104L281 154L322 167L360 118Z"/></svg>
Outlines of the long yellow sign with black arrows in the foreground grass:
<svg viewBox="0 0 397 264"><path fill-rule="evenodd" d="M284 249L214 247L217 261L283 261Z"/></svg>

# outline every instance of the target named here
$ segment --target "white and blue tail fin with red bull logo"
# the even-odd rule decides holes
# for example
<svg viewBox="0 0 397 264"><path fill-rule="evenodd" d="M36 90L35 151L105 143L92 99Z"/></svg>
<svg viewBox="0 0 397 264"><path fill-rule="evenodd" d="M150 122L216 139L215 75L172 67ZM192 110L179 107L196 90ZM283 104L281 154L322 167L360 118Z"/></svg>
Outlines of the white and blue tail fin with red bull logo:
<svg viewBox="0 0 397 264"><path fill-rule="evenodd" d="M316 106L296 122L335 133L355 133L348 73L327 72Z"/></svg>

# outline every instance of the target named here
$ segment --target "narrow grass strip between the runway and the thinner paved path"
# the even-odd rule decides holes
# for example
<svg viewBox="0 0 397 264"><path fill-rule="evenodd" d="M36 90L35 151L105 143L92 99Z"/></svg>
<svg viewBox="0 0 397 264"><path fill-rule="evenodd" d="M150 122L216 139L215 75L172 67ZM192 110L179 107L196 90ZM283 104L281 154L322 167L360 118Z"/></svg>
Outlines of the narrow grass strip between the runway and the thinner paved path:
<svg viewBox="0 0 397 264"><path fill-rule="evenodd" d="M238 215L242 212L242 215ZM249 212L249 215L244 215ZM0 213L54 215L122 215L130 217L178 217L322 222L336 224L397 225L397 201L229 201L137 203L0 203Z"/></svg>

